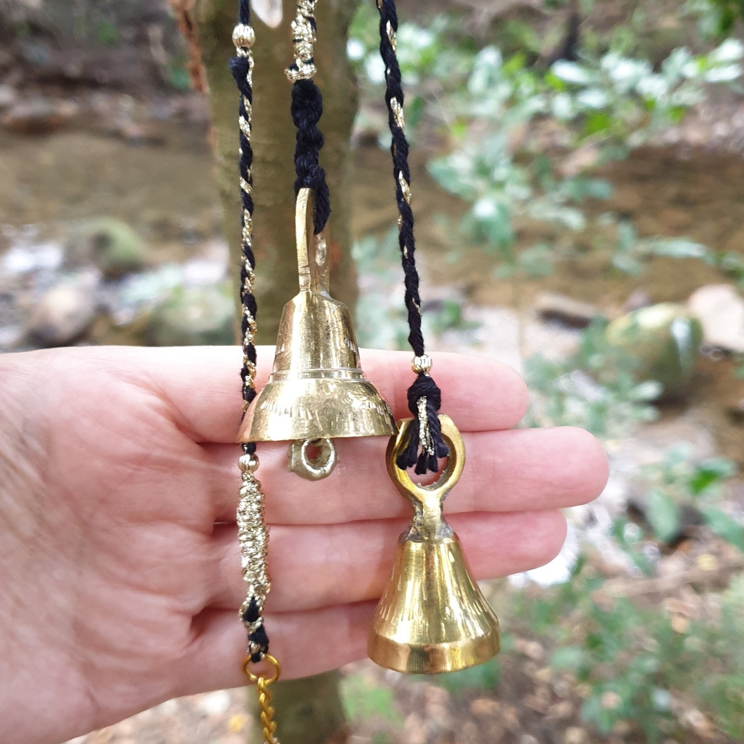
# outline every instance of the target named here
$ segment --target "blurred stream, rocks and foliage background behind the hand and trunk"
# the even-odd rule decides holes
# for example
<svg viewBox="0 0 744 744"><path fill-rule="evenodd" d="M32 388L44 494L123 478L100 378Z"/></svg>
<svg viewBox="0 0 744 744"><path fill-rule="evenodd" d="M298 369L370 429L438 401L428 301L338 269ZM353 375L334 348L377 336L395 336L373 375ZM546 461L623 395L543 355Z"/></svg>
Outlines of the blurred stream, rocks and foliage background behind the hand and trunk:
<svg viewBox="0 0 744 744"><path fill-rule="evenodd" d="M342 670L344 741L743 741L744 4L399 6L430 346L518 368L522 426L591 430L612 475L558 559L487 583L496 661ZM339 294L356 271L360 342L405 348L376 7L348 8L359 106L321 121L348 115L351 139ZM224 146L179 19L166 0L0 0L1 351L234 342ZM281 307L295 285L263 291ZM220 691L76 741L238 744L250 723Z"/></svg>

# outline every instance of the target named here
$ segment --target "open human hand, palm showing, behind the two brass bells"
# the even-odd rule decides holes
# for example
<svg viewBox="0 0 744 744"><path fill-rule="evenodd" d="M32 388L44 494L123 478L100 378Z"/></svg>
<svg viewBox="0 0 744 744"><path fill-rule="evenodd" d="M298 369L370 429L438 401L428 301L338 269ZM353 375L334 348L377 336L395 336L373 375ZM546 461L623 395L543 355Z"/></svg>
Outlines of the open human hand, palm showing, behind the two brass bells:
<svg viewBox="0 0 744 744"><path fill-rule="evenodd" d="M446 501L478 579L552 559L559 509L600 493L606 458L580 429L509 430L524 383L486 359L434 354L468 461ZM272 350L259 350L259 383ZM365 351L405 417L407 353ZM0 741L59 742L175 696L246 682L233 442L234 347L99 347L0 356ZM506 429L506 430L504 430ZM262 444L271 527L266 629L284 676L365 655L410 507L386 437L336 440L326 481ZM498 611L498 608L496 608Z"/></svg>

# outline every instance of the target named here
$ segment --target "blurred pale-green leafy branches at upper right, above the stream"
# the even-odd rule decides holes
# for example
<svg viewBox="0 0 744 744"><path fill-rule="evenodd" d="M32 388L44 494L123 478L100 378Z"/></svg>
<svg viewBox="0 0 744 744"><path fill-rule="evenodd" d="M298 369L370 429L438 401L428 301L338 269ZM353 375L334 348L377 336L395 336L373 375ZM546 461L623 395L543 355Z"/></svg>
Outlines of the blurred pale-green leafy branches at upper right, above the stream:
<svg viewBox="0 0 744 744"><path fill-rule="evenodd" d="M647 144L679 124L711 85L738 86L744 45L726 39L707 54L675 49L656 70L647 60L611 48L550 68L507 60L497 48L477 50L440 16L429 28L400 26L399 54L406 81L408 132L426 121L446 139L449 154L429 170L471 207L461 224L465 246L478 246L498 278L546 275L559 261L580 257L586 234L612 266L638 273L652 255L693 257L737 279L744 262L684 239L638 239L632 223L606 213L590 217L586 202L609 199L612 186L591 170ZM361 12L352 26L350 57L368 86L381 86L376 14ZM387 144L388 135L380 132ZM548 223L556 239L524 245L525 220Z"/></svg>

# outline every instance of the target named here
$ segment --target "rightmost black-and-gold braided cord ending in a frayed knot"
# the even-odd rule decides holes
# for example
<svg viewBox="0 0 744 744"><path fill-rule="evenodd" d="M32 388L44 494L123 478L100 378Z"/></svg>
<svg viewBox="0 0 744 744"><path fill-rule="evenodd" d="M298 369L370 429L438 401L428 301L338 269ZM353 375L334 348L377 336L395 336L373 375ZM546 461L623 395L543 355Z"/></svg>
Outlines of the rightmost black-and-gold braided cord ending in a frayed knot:
<svg viewBox="0 0 744 744"><path fill-rule="evenodd" d="M393 155L393 175L395 177L395 197L398 202L400 253L405 275L405 307L408 310L408 343L417 357L425 355L421 333L421 298L419 296L419 275L416 269L416 243L414 240L414 214L411 210L411 171L408 168L408 140L403 132L403 81L400 65L395 53L398 16L394 0L376 0L379 10L379 52L385 62L385 103L388 104L388 124L393 136L391 153ZM426 405L420 401L426 400ZM406 469L416 466L416 472L423 475L427 471L437 472L438 458L449 455L449 449L442 438L437 411L442 403L442 394L426 368L417 371L413 385L408 388L408 409L414 415L411 437L397 458L397 466ZM426 421L421 416L426 411ZM431 441L429 446L421 441L421 431L428 426Z"/></svg>

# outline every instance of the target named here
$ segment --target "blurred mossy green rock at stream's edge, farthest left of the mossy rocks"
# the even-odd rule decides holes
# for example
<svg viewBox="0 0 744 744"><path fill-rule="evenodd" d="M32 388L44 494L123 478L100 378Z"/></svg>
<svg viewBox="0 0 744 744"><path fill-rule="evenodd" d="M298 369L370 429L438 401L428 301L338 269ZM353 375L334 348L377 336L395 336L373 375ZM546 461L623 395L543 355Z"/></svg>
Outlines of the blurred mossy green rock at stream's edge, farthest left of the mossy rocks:
<svg viewBox="0 0 744 744"><path fill-rule="evenodd" d="M65 246L71 266L93 265L106 279L141 271L147 262L147 246L126 222L96 217L80 223Z"/></svg>

